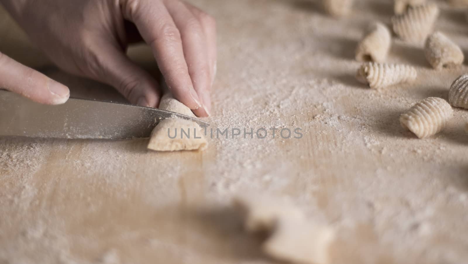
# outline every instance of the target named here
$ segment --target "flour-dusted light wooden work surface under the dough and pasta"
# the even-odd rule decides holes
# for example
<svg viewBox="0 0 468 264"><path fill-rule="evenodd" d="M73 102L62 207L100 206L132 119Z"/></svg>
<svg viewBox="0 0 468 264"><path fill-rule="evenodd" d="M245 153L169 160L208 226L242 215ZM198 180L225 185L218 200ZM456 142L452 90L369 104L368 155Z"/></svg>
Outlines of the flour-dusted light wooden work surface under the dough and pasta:
<svg viewBox="0 0 468 264"><path fill-rule="evenodd" d="M388 60L415 66L417 81L357 83L356 43L371 21L390 21L390 1L357 1L345 19L314 1L192 2L218 21L212 127L304 136L215 137L176 153L146 151L146 139L0 138L0 263L272 263L230 205L248 190L289 196L336 228L333 263L466 263L468 113L424 140L398 122L420 99L447 98L466 66L437 72L395 40ZM441 6L437 28L467 51L463 12ZM3 10L0 50L72 95L122 100L52 67ZM145 46L129 53L155 69Z"/></svg>

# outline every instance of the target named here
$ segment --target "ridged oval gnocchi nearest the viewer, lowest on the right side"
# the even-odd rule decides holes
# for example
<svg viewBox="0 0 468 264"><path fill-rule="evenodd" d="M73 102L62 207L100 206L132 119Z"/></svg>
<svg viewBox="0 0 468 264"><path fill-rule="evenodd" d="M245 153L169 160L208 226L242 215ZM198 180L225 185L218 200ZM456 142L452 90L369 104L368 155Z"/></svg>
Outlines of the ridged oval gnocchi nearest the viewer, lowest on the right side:
<svg viewBox="0 0 468 264"><path fill-rule="evenodd" d="M406 113L402 113L400 123L418 138L424 138L442 131L452 115L452 107L446 100L429 97L417 102Z"/></svg>

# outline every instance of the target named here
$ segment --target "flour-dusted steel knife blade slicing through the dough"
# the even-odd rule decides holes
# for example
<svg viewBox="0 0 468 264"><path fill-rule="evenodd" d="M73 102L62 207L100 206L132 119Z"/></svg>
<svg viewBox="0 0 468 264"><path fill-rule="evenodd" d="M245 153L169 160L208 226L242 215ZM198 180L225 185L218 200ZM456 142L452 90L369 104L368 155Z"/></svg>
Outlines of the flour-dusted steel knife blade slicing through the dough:
<svg viewBox="0 0 468 264"><path fill-rule="evenodd" d="M49 106L0 90L0 136L124 139L149 137L159 121L178 117L210 124L179 113L151 107L69 98Z"/></svg>

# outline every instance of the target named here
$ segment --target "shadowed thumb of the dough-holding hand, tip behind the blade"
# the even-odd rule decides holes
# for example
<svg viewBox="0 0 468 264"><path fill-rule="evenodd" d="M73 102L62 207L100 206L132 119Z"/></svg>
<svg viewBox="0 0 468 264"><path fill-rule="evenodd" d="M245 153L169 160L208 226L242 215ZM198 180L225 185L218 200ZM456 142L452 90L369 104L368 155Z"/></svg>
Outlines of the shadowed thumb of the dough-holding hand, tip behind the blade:
<svg viewBox="0 0 468 264"><path fill-rule="evenodd" d="M156 80L119 47L103 41L96 43L93 50L99 54L96 63L99 70L94 71L98 73L97 79L115 87L132 104L146 107L159 105L161 91Z"/></svg>

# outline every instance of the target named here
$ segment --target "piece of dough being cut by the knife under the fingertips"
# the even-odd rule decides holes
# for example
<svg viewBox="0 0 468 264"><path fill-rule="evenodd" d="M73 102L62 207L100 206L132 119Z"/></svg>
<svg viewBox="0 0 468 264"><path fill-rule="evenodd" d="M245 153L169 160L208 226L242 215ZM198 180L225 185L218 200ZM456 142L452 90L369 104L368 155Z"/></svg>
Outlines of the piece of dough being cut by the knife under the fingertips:
<svg viewBox="0 0 468 264"><path fill-rule="evenodd" d="M159 108L195 117L189 107L169 93L161 98ZM175 138L171 138L174 136ZM154 151L203 151L207 145L204 130L196 122L171 117L160 121L153 129L147 148Z"/></svg>

